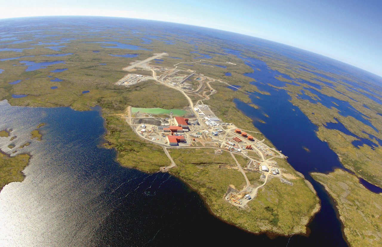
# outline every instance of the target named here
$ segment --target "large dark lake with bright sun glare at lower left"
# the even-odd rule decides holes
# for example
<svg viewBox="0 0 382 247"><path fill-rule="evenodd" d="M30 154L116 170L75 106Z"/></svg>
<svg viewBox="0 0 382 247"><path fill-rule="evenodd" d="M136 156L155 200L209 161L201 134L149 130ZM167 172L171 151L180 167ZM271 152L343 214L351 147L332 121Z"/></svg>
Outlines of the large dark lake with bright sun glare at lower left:
<svg viewBox="0 0 382 247"><path fill-rule="evenodd" d="M98 108L74 111L0 102L0 129L13 129L16 147L30 141L30 132L43 122L42 141L21 149L32 154L25 180L0 193L1 246L194 246L237 244L237 239L270 246L288 241L344 245L328 233L340 229L339 224L322 228L326 218L321 214L311 223L309 237L270 239L218 220L196 192L167 173L121 167L114 160L116 152L99 145L105 128ZM0 139L8 154L11 136ZM335 238L322 238L326 233Z"/></svg>

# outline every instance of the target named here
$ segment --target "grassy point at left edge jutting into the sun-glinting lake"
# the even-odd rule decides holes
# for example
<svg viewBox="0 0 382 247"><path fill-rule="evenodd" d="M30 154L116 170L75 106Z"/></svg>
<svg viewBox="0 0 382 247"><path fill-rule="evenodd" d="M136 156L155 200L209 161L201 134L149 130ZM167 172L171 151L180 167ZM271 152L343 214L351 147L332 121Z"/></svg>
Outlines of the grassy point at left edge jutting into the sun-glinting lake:
<svg viewBox="0 0 382 247"><path fill-rule="evenodd" d="M0 152L0 190L8 183L24 180L21 171L28 165L29 158L28 154L9 157Z"/></svg>

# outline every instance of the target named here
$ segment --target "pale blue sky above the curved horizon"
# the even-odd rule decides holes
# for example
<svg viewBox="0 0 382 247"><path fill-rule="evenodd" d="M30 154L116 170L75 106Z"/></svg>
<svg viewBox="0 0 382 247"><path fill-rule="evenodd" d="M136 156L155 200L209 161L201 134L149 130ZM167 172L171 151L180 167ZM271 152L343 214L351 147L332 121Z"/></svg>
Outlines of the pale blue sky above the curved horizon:
<svg viewBox="0 0 382 247"><path fill-rule="evenodd" d="M382 76L381 0L11 0L0 19L115 16L211 27L312 51Z"/></svg>

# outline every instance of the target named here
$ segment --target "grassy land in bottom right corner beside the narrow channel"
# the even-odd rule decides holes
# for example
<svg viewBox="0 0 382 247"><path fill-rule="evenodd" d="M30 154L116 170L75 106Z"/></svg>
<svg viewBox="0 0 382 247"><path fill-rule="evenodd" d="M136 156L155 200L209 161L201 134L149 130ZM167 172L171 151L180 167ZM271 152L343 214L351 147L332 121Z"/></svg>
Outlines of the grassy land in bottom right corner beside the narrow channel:
<svg viewBox="0 0 382 247"><path fill-rule="evenodd" d="M351 246L380 246L382 243L382 195L358 182L358 178L337 169L329 174L312 173L313 178L336 202L346 239Z"/></svg>

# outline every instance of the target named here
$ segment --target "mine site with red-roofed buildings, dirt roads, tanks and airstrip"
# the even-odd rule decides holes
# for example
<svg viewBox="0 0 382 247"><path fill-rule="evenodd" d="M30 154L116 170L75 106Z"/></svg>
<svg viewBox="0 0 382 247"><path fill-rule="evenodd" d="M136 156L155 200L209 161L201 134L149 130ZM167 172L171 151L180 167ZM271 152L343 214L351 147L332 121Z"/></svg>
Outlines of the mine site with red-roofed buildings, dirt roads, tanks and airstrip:
<svg viewBox="0 0 382 247"><path fill-rule="evenodd" d="M182 63L175 64L174 68L149 64L152 59L166 55L167 53L156 54L151 58L125 67L124 70L128 71L129 74L116 82L117 85L130 86L151 79L166 87L180 91L188 99L189 107L185 109L186 114L182 116L176 115L173 112L167 115L157 115L145 112L144 109L133 112L132 107L129 107L126 112L126 121L137 135L144 140L163 147L171 164L161 167L160 170L165 172L176 166L167 149L214 148L215 155L217 156L223 152L230 152L236 161L237 168L235 168L243 174L246 180L246 186L240 191L228 188L225 199L232 205L245 207L248 202L256 197L258 189L267 183L270 176L280 179L281 183L293 186L292 182L282 177L283 169L279 168L277 162L273 160L275 157L286 158L281 151L264 144L264 139L257 140L253 135L257 132L252 133L240 129L240 127L233 125L233 123L223 122L214 114L208 104L203 103L203 101L208 101L209 95L215 93L214 88L210 86L209 82L222 81L197 74L196 71L190 69L185 69L181 67ZM214 62L209 61L209 63ZM151 71L152 75L139 74L138 69L141 71ZM160 72L160 75L156 75L157 72ZM197 84L192 84L191 80L196 81ZM222 83L234 87L226 82ZM210 92L209 95L205 93L206 89ZM188 95L189 93L199 93L204 99L197 101L194 105ZM248 162L245 167L239 164L234 154L247 158ZM264 183L253 188L244 170L246 172L259 173Z"/></svg>

